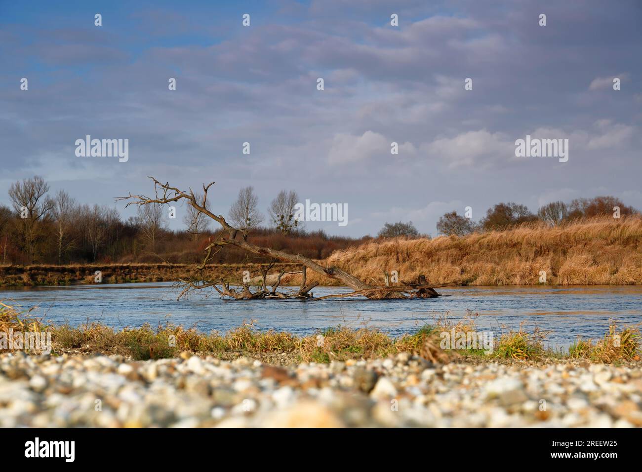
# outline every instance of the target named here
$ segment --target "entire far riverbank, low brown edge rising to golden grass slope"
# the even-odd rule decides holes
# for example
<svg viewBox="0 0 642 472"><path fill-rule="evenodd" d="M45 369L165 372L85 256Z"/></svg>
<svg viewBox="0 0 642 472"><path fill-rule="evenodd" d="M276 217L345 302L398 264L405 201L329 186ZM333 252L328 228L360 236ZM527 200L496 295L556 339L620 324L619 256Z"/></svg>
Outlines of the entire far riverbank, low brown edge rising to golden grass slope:
<svg viewBox="0 0 642 472"><path fill-rule="evenodd" d="M642 217L591 218L549 227L527 223L505 231L427 239L393 238L336 250L317 261L336 266L366 283L381 285L385 272L392 279L413 281L426 275L431 284L498 285L627 285L642 284ZM268 265L208 265L204 278L240 284L243 272L259 283ZM185 279L189 264L0 265L0 286L92 284L96 270L102 283L161 282ZM281 270L300 266L277 263ZM308 271L308 283L330 286L339 282ZM282 285L299 285L300 275L285 274Z"/></svg>

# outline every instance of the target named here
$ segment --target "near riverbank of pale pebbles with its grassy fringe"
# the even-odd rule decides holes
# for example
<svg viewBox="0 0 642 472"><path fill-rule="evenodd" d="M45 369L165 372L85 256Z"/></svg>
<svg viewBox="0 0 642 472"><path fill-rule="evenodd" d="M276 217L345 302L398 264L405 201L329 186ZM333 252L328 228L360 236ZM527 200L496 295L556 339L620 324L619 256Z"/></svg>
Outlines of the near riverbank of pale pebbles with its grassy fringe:
<svg viewBox="0 0 642 472"><path fill-rule="evenodd" d="M642 426L632 327L568 353L521 330L449 349L443 333L475 333L474 319L397 338L341 327L296 337L247 324L47 326L0 304L0 333L25 332L50 343L0 354L2 427Z"/></svg>

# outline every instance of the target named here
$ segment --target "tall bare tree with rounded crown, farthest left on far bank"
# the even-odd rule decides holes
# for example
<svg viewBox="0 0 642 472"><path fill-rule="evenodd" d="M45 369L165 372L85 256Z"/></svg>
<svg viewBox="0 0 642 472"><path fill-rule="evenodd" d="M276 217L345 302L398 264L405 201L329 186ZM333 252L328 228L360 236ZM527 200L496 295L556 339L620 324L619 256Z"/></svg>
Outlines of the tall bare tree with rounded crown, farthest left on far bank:
<svg viewBox="0 0 642 472"><path fill-rule="evenodd" d="M39 233L40 220L53 208L53 200L47 197L48 191L49 185L38 175L14 182L9 188L13 209L20 216L15 220L18 237L30 261L42 236Z"/></svg>

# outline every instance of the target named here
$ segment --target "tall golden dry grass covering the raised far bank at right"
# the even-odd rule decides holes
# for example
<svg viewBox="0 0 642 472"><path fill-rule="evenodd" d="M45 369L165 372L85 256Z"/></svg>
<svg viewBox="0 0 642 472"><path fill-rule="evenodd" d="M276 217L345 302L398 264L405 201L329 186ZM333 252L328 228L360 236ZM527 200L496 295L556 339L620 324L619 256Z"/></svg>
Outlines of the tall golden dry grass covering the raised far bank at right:
<svg viewBox="0 0 642 472"><path fill-rule="evenodd" d="M322 264L376 284L383 284L385 270L397 270L404 281L424 274L433 284L534 285L540 283L541 270L548 284L640 284L642 217L591 218L560 227L535 222L431 240L378 240L338 250ZM327 283L316 274L308 279Z"/></svg>

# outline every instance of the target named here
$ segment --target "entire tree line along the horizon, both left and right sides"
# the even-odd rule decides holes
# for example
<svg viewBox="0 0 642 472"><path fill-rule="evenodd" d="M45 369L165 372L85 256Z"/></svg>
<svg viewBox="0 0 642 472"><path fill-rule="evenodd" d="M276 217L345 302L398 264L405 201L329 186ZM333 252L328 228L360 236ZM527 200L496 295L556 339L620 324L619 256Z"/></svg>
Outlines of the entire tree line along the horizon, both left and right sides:
<svg viewBox="0 0 642 472"><path fill-rule="evenodd" d="M141 205L135 216L123 220L115 208L81 204L64 190L49 195L48 183L39 176L14 182L8 195L12 206L0 204L2 264L195 263L202 259L204 248L220 231L211 229L210 218L189 205L182 207L184 229L181 230L168 228L167 205ZM326 258L334 250L372 239L306 231L305 223L295 218L297 202L299 196L295 191L282 190L264 215L254 188L248 186L239 191L227 220L243 230L256 245L313 259ZM439 219L437 231L463 236L538 220L554 226L577 218L612 215L614 207L621 216L638 213L615 197L578 198L568 204L552 202L540 207L536 214L525 205L508 202L490 207L479 222L456 211L446 213ZM430 237L420 234L412 222L385 223L377 234L379 238L397 236ZM256 256L248 256L234 247L220 251L214 259L216 263L259 261Z"/></svg>

